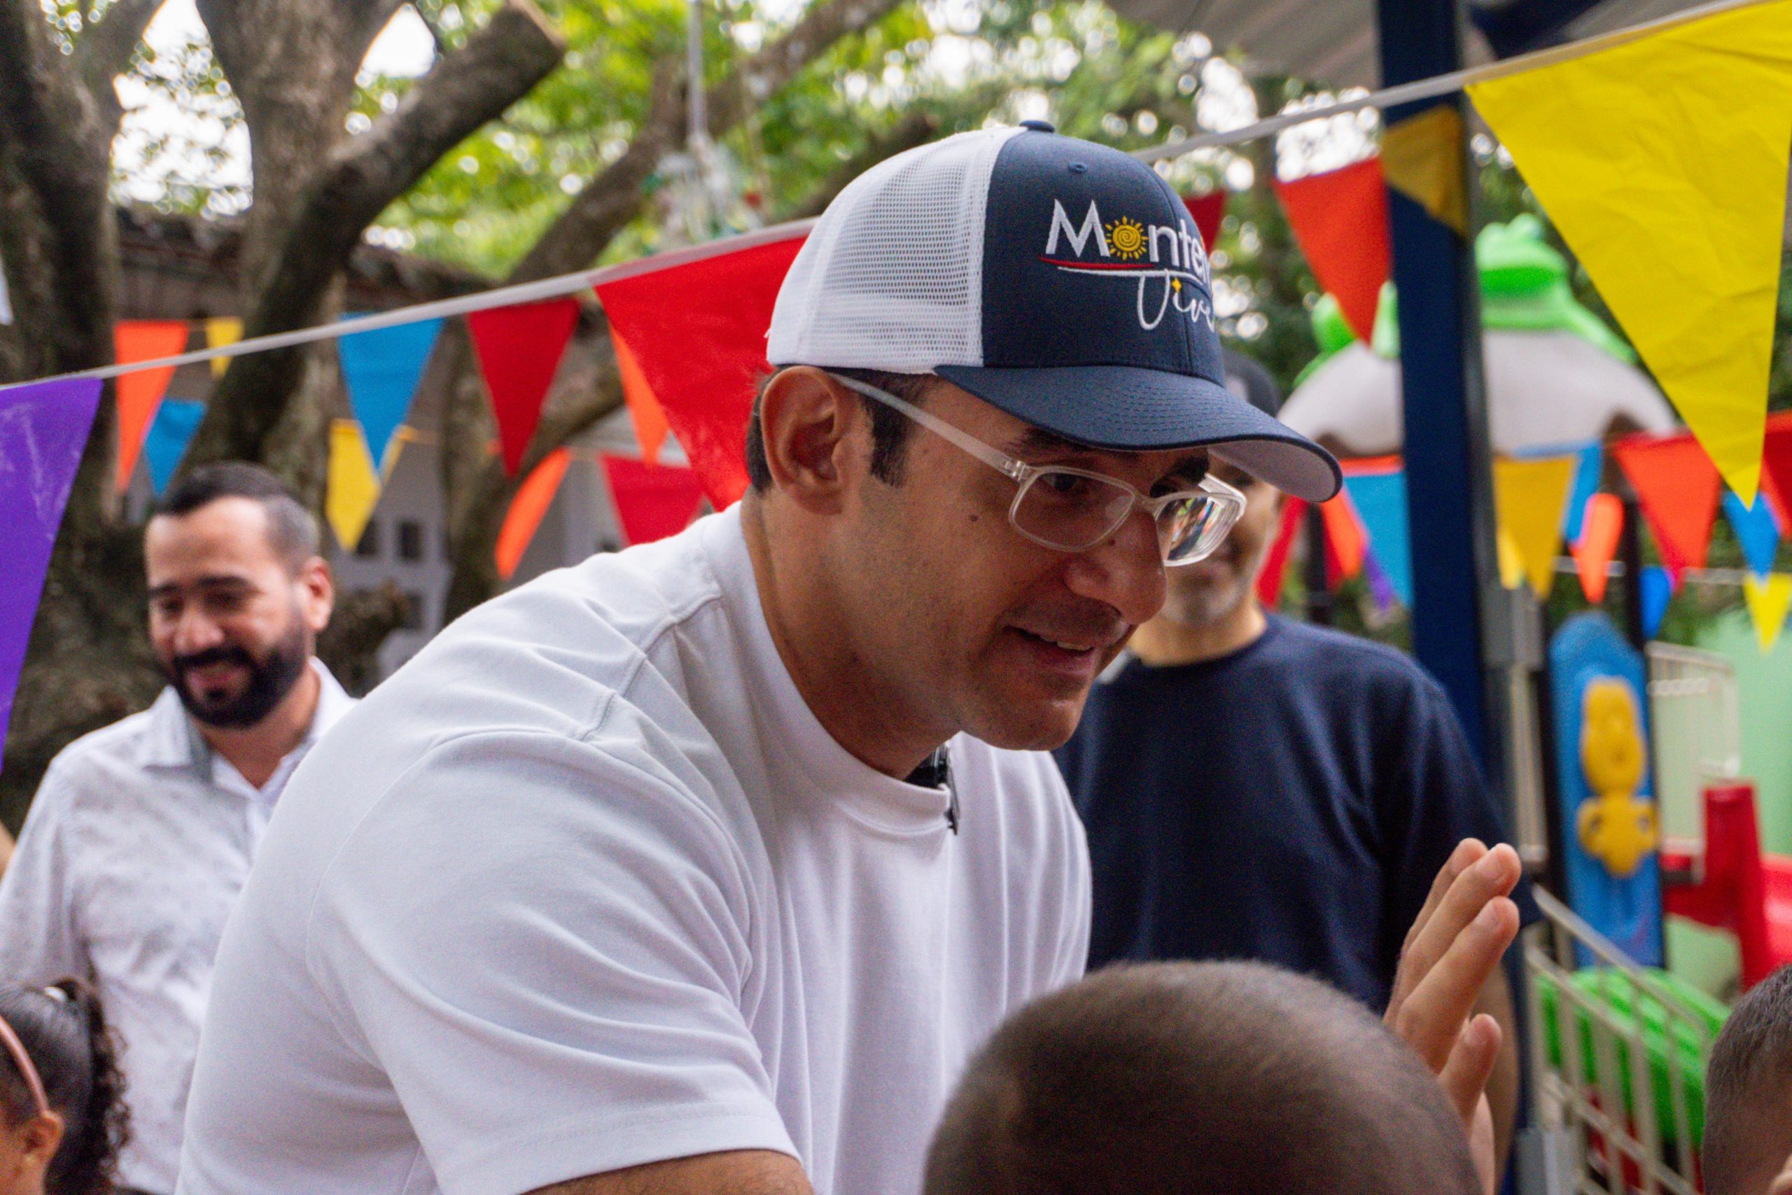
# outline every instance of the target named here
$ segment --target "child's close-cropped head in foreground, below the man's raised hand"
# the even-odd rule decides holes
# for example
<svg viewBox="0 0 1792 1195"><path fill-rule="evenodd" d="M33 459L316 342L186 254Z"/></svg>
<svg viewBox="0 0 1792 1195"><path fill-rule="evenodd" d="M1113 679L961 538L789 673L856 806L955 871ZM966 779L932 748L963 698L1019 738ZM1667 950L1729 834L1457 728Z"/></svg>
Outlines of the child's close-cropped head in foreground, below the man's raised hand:
<svg viewBox="0 0 1792 1195"><path fill-rule="evenodd" d="M1016 1012L926 1195L1471 1195L1462 1122L1366 1009L1253 962L1109 967Z"/></svg>

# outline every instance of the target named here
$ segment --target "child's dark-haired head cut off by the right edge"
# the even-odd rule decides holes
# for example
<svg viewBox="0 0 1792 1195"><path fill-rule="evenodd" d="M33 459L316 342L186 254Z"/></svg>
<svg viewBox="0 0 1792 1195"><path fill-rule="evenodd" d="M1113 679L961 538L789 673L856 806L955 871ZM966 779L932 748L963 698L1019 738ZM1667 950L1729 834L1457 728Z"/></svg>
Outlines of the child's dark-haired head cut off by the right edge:
<svg viewBox="0 0 1792 1195"><path fill-rule="evenodd" d="M1704 1190L1767 1195L1792 1154L1792 967L1736 1002L1704 1084Z"/></svg>

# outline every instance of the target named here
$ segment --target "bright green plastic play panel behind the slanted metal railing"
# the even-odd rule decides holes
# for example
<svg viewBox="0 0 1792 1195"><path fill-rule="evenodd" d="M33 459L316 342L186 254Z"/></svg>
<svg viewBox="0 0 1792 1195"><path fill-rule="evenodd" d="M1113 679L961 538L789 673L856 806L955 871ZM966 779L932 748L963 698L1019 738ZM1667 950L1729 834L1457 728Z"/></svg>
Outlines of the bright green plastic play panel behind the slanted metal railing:
<svg viewBox="0 0 1792 1195"><path fill-rule="evenodd" d="M1643 967L1649 980L1663 989L1674 1000L1677 1000L1686 1010L1697 1016L1706 1028L1704 1048L1717 1037L1717 1032L1724 1027L1724 1018L1729 1016L1729 1009L1722 1002L1708 996L1692 984L1668 975L1667 971L1656 967ZM1668 1075L1668 1057L1672 1053L1674 1066L1679 1068L1681 1091L1686 1096L1686 1127L1692 1132L1693 1148L1704 1143L1704 1048L1701 1048L1699 1034L1692 1025L1681 1019L1674 1023L1674 1048L1668 1048L1667 1034L1667 1010L1661 1002L1649 993L1638 993L1636 984L1629 975L1613 967L1588 967L1575 971L1568 980L1579 996L1593 1005L1602 1005L1606 1009L1606 1019L1618 1030L1611 1036L1609 1050L1606 1050L1606 1062L1616 1064L1616 1075L1606 1075L1600 1070L1600 1050L1595 1048L1593 1041L1593 1023L1586 1009L1575 1007L1575 1021L1579 1023L1581 1037L1581 1080L1586 1088L1616 1086L1624 1096L1625 1116L1634 1118L1636 1114L1636 1096L1631 1091L1631 1041L1629 1036L1636 1028L1638 1012L1641 1014L1641 1037L1643 1052L1649 1055L1649 1080L1654 1088L1656 1102L1656 1131L1661 1134L1663 1141L1679 1139L1679 1122L1674 1116L1674 1086ZM1563 1045L1561 1028L1557 1018L1557 982L1550 975L1538 975L1538 1000L1543 1007L1543 1046L1548 1055L1550 1066L1568 1077L1568 1068L1563 1062ZM1600 1080L1607 1080L1600 1084ZM1616 1080L1615 1084L1611 1080Z"/></svg>

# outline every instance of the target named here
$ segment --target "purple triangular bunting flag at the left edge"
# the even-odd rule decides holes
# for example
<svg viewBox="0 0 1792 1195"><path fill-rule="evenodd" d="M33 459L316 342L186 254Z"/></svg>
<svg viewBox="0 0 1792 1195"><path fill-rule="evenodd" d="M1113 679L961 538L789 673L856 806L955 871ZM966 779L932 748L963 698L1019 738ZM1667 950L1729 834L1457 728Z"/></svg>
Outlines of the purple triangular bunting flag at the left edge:
<svg viewBox="0 0 1792 1195"><path fill-rule="evenodd" d="M63 505L88 444L100 383L39 382L0 391L0 747Z"/></svg>

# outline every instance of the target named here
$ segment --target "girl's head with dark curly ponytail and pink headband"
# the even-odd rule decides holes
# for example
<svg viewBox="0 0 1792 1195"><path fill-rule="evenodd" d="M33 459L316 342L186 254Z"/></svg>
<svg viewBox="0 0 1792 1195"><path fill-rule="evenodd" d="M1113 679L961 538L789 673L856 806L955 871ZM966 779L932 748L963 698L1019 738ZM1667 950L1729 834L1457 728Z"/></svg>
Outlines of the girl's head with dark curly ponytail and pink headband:
<svg viewBox="0 0 1792 1195"><path fill-rule="evenodd" d="M79 980L0 987L0 1195L108 1195L124 1080Z"/></svg>

